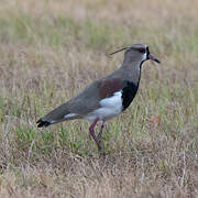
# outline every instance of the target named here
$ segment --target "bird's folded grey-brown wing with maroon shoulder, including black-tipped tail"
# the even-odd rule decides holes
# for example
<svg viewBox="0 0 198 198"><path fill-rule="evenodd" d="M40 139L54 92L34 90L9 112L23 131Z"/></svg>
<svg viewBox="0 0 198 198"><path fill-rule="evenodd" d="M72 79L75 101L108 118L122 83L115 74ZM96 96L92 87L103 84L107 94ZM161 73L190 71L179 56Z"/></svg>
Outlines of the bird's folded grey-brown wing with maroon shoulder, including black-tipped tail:
<svg viewBox="0 0 198 198"><path fill-rule="evenodd" d="M100 100L113 96L123 87L120 78L97 80L87 87L76 98L63 103L43 118L41 118L37 127L47 127L51 123L57 123L66 120L65 116L75 113L70 119L82 118L100 107ZM68 119L67 119L68 120Z"/></svg>

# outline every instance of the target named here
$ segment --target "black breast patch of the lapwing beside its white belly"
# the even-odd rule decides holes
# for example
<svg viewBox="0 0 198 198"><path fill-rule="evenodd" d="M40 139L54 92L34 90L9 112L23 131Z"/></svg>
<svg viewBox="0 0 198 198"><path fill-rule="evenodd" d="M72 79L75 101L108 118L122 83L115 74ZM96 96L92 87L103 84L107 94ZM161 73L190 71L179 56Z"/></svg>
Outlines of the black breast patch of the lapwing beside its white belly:
<svg viewBox="0 0 198 198"><path fill-rule="evenodd" d="M133 101L133 98L136 95L139 89L139 84L135 85L132 81L124 81L124 86L122 88L122 110L124 111L130 103Z"/></svg>

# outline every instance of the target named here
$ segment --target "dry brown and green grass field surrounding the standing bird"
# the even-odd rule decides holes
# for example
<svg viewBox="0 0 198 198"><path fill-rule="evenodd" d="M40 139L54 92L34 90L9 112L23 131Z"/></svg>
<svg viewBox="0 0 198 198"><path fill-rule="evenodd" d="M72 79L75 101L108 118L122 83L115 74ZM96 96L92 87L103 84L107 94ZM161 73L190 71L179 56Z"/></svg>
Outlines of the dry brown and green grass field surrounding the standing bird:
<svg viewBox="0 0 198 198"><path fill-rule="evenodd" d="M0 197L198 197L197 0L0 1ZM35 121L145 43L132 106L108 122L107 158L81 120Z"/></svg>

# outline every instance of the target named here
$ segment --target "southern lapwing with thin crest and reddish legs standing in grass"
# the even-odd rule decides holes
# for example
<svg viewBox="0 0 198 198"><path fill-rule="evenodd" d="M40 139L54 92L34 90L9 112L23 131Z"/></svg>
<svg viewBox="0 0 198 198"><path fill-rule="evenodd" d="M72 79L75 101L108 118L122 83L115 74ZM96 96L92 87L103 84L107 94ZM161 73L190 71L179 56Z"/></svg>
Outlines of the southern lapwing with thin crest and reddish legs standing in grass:
<svg viewBox="0 0 198 198"><path fill-rule="evenodd" d="M125 51L125 53L123 63L118 70L94 81L78 96L48 112L36 122L37 128L74 119L92 121L89 132L97 143L98 150L101 151L105 122L120 114L132 102L139 89L142 64L147 59L160 63L150 54L148 46L144 44L134 44L112 54L120 51ZM102 124L99 134L96 135L95 127L98 121L102 121Z"/></svg>

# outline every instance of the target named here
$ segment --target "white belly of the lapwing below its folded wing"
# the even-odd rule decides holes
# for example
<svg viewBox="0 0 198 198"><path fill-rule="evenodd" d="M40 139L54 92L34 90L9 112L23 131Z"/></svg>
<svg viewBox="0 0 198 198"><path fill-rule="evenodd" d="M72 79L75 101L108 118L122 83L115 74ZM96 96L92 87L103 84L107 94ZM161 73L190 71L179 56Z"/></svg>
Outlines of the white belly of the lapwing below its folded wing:
<svg viewBox="0 0 198 198"><path fill-rule="evenodd" d="M100 108L85 117L86 120L94 121L97 118L100 120L109 120L122 112L122 94L114 92L110 98L105 98L100 101Z"/></svg>

